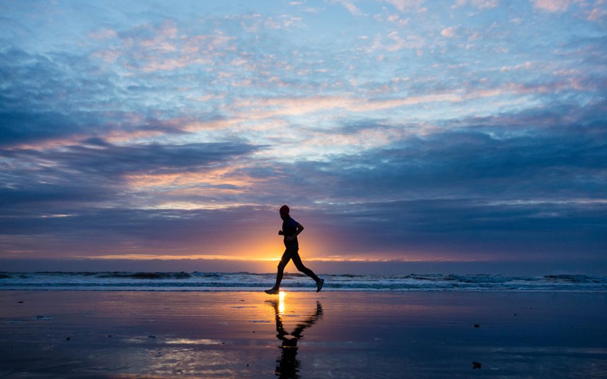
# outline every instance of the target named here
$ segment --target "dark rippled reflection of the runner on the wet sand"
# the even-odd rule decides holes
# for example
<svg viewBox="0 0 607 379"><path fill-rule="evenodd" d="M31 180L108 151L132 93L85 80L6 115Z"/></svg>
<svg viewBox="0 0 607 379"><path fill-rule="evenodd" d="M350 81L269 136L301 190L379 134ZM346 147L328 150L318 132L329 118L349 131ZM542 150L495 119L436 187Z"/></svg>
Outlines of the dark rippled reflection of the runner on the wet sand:
<svg viewBox="0 0 607 379"><path fill-rule="evenodd" d="M297 324L295 329L289 333L284 329L282 323L282 318L287 310L286 295L287 293L281 291L278 300L267 301L267 303L274 307L276 337L281 342L280 346L278 346L281 349L281 354L280 358L276 361L277 366L274 373L279 378L299 378L298 373L301 362L297 359L297 342L300 339L304 339L304 330L316 324L320 320L320 317L323 316L323 306L320 305L320 301L316 301L316 310L313 310L313 314L303 322Z"/></svg>

